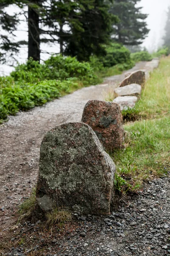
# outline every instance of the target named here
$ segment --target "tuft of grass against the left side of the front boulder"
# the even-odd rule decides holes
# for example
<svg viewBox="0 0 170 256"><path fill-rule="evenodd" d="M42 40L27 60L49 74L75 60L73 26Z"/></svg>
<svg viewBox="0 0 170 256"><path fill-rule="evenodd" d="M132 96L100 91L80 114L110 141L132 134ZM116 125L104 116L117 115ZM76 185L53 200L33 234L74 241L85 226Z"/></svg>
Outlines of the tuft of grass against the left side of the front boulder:
<svg viewBox="0 0 170 256"><path fill-rule="evenodd" d="M35 203L36 203L36 188L33 189L31 196L20 205L19 214L24 216L29 216L32 210L34 209Z"/></svg>

